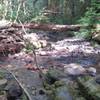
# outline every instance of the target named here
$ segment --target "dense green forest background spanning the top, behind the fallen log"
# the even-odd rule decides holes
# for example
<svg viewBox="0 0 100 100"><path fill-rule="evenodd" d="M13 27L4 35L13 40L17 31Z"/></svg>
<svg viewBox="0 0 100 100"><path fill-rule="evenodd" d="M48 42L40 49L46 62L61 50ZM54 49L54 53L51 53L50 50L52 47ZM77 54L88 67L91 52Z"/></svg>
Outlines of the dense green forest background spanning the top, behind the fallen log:
<svg viewBox="0 0 100 100"><path fill-rule="evenodd" d="M22 23L82 24L89 27L74 34L91 38L94 26L100 23L100 1L0 0L0 19Z"/></svg>

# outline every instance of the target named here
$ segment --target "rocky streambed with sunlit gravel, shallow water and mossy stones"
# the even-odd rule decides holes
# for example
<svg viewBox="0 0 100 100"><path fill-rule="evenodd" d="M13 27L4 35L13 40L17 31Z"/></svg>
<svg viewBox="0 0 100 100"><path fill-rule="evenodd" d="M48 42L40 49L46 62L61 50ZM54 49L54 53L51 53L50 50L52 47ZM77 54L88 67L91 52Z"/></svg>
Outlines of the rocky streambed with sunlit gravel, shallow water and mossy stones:
<svg viewBox="0 0 100 100"><path fill-rule="evenodd" d="M100 99L99 45L93 47L86 40L67 38L49 41L49 46L35 53L36 59L24 49L1 60L1 66L15 74L32 100Z"/></svg>

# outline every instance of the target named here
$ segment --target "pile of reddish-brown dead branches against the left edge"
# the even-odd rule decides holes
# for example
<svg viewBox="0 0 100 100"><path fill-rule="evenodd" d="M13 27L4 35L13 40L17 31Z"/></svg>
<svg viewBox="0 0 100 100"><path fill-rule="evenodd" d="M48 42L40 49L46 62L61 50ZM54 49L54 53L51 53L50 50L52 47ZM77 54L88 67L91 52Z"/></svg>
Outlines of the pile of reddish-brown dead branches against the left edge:
<svg viewBox="0 0 100 100"><path fill-rule="evenodd" d="M21 31L10 27L7 22L0 22L0 27L0 55L19 52L23 47Z"/></svg>

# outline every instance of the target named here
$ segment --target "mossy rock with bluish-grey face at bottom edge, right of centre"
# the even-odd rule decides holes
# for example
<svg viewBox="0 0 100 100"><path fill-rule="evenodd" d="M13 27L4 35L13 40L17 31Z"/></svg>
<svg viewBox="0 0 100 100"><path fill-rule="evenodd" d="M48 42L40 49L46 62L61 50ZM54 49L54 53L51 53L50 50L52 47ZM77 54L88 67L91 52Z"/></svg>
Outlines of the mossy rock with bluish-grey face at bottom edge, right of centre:
<svg viewBox="0 0 100 100"><path fill-rule="evenodd" d="M58 84L58 82L60 84ZM71 84L57 81L57 83L50 86L51 90L47 90L47 93L49 91L50 100L85 100L84 97L79 95L79 90L77 90L73 85L71 86ZM70 87L73 87L73 89Z"/></svg>

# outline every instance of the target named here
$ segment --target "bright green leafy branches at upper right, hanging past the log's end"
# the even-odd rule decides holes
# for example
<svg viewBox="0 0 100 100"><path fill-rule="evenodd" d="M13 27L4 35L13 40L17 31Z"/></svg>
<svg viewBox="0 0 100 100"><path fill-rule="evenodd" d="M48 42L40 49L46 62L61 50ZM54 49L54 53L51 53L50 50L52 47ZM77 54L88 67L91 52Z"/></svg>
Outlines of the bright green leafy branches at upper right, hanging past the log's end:
<svg viewBox="0 0 100 100"><path fill-rule="evenodd" d="M95 24L100 24L100 1L91 0L91 7L87 8L86 13L80 20L78 20L78 22L88 26L89 28L81 29L79 32L75 32L75 36L91 39L92 32L95 31Z"/></svg>

